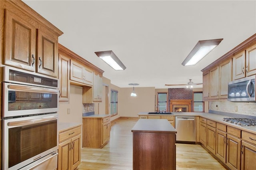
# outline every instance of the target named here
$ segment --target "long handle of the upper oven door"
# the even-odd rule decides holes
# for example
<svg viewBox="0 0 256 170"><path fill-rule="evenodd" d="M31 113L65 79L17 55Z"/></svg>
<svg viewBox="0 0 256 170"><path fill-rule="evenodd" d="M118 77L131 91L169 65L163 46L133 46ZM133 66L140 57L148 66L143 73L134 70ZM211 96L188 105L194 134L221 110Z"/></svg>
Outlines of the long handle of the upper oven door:
<svg viewBox="0 0 256 170"><path fill-rule="evenodd" d="M15 91L26 91L26 92L34 92L34 93L53 93L58 94L58 89L48 89L44 87L32 87L26 85L12 85L9 84L8 89L15 90Z"/></svg>

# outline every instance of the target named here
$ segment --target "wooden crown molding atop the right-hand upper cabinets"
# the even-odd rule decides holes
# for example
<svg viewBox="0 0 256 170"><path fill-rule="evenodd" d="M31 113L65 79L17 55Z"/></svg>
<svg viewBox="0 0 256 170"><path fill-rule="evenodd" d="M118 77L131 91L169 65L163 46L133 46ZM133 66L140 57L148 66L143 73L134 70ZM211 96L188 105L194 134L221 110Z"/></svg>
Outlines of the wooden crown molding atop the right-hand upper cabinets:
<svg viewBox="0 0 256 170"><path fill-rule="evenodd" d="M248 39L246 39L244 42L240 43L239 45L237 45L236 47L234 47L233 49L231 49L230 51L228 51L226 54L222 55L220 58L218 58L217 60L215 60L214 62L212 62L210 65L208 65L207 67L205 67L204 69L202 69L201 71L204 72L206 70L209 70L210 68L212 68L215 65L219 65L220 62L229 59L231 57L234 56L234 53L238 53L244 49L246 49L246 47L252 45L252 43L256 42L256 34L250 36Z"/></svg>

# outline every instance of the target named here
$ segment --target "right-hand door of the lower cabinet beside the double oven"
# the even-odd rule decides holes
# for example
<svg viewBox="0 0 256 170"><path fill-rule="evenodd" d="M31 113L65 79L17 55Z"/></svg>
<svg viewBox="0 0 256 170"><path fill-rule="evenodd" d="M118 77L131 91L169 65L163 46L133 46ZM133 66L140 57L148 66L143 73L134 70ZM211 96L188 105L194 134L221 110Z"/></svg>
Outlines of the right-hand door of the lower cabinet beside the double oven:
<svg viewBox="0 0 256 170"><path fill-rule="evenodd" d="M74 170L81 162L81 135L72 138L71 146L71 170Z"/></svg>

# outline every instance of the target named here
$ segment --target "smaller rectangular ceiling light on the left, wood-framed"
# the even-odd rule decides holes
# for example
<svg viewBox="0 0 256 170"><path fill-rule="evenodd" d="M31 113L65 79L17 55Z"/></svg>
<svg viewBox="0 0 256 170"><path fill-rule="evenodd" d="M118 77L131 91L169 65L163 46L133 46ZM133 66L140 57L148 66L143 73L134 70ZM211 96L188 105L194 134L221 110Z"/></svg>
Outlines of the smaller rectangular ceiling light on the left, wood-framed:
<svg viewBox="0 0 256 170"><path fill-rule="evenodd" d="M115 70L125 70L126 67L113 51L99 51L95 54Z"/></svg>

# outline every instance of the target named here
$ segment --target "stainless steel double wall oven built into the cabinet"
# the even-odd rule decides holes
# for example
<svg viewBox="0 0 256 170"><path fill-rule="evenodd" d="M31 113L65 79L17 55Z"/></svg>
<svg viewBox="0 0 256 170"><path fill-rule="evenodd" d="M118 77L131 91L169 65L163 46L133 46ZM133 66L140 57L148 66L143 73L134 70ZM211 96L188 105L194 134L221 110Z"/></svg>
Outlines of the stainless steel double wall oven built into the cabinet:
<svg viewBox="0 0 256 170"><path fill-rule="evenodd" d="M58 79L3 67L2 169L55 169Z"/></svg>

